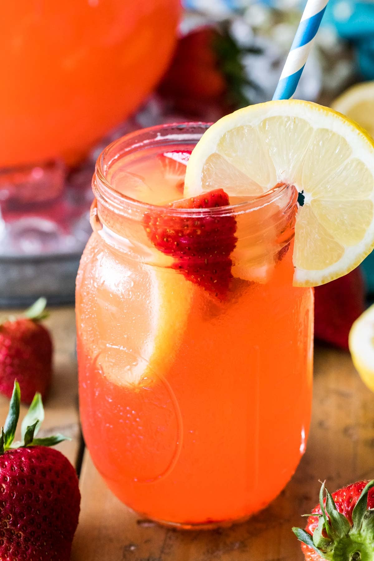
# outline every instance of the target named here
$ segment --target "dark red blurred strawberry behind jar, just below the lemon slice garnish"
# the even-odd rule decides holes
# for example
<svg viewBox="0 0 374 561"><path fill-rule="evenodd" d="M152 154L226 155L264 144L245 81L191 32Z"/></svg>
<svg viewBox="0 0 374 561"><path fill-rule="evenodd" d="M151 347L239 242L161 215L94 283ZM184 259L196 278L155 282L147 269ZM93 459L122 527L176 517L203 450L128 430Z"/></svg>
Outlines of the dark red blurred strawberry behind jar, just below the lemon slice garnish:
<svg viewBox="0 0 374 561"><path fill-rule="evenodd" d="M359 268L315 288L315 336L348 349L352 324L365 310L365 289Z"/></svg>

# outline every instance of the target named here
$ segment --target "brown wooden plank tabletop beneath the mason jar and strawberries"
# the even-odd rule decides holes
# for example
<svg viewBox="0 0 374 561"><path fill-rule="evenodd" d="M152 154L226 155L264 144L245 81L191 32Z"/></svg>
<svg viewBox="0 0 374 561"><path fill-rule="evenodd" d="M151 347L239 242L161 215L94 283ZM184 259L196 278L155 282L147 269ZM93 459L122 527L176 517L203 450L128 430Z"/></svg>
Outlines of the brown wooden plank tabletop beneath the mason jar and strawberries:
<svg viewBox="0 0 374 561"><path fill-rule="evenodd" d="M81 514L72 561L298 561L303 557L291 527L301 525L300 515L317 502L318 480L326 479L333 491L374 477L374 395L362 384L348 353L317 347L307 452L269 508L247 523L211 532L178 532L138 519L107 490L82 445L73 309L52 309L47 324L56 353L44 434L53 430L72 437L58 448L80 472ZM0 408L4 419L3 398Z"/></svg>

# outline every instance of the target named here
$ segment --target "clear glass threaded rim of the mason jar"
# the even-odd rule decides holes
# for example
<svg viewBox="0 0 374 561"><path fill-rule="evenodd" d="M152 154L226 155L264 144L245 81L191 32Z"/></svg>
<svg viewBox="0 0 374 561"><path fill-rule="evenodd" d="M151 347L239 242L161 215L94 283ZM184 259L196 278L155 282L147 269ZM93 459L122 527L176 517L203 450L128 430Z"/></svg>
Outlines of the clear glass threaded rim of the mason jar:
<svg viewBox="0 0 374 561"><path fill-rule="evenodd" d="M160 146L165 146L167 144L175 144L176 142L188 142L190 144L197 142L211 124L204 122L167 123L165 125L142 128L114 140L101 152L96 160L93 178L93 191L96 199L114 213L129 218L137 218L144 214L154 214L162 211L170 217L179 218L183 216L191 218L194 215L199 217L202 215L240 215L274 204L278 199L280 200L279 206L283 207L285 193L289 190L289 187L292 187L287 183L275 186L273 189L256 197L251 197L248 201L233 205L206 209L178 209L168 204L154 205L133 199L117 191L107 180L106 175L110 165L121 158L126 158L126 155L132 154L137 150L146 149L148 146L155 146L158 143L160 143ZM181 199L183 199L183 196L181 196Z"/></svg>

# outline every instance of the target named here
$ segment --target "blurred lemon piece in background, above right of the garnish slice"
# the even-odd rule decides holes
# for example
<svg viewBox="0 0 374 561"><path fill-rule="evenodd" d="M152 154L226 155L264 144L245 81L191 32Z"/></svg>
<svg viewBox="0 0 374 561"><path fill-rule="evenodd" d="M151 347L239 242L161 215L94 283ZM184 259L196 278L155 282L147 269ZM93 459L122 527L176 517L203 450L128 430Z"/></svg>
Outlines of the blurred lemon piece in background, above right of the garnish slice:
<svg viewBox="0 0 374 561"><path fill-rule="evenodd" d="M348 88L335 99L332 107L356 121L374 138L374 81Z"/></svg>

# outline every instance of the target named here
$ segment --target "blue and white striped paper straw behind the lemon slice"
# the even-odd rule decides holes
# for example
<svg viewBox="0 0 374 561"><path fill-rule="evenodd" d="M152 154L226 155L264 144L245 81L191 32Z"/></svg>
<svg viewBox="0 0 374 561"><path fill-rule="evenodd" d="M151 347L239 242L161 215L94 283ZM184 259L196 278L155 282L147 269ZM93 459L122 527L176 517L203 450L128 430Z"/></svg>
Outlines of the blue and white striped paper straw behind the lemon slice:
<svg viewBox="0 0 374 561"><path fill-rule="evenodd" d="M304 70L329 0L308 0L273 99L290 99Z"/></svg>

